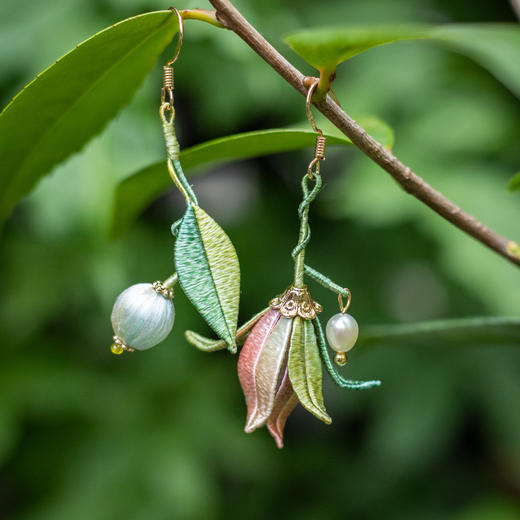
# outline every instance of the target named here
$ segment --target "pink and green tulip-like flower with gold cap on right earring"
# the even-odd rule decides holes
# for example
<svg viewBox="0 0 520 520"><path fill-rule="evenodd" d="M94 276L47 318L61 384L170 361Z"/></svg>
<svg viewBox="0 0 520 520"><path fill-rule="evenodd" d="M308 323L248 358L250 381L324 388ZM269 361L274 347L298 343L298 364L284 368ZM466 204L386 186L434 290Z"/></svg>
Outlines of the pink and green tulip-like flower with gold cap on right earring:
<svg viewBox="0 0 520 520"><path fill-rule="evenodd" d="M240 352L238 377L247 402L245 431L266 425L279 448L286 420L298 403L326 424L332 422L323 401L322 362L343 388L379 385L379 381L349 381L334 371L317 316L321 311L307 287L289 287L270 302Z"/></svg>

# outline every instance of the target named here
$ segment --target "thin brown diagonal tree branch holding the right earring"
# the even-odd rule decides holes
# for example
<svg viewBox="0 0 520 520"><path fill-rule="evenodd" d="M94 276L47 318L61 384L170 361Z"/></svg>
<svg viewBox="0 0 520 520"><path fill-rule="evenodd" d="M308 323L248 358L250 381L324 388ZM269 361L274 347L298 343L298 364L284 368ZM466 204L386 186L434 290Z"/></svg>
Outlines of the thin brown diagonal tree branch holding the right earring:
<svg viewBox="0 0 520 520"><path fill-rule="evenodd" d="M305 76L291 65L229 2L229 0L209 0L217 10L217 19L242 38L257 54L305 96ZM337 126L363 153L389 173L403 189L429 206L441 217L459 229L493 249L510 262L520 265L520 246L499 235L479 222L442 193L432 188L421 177L368 135L330 97L314 102L316 108Z"/></svg>

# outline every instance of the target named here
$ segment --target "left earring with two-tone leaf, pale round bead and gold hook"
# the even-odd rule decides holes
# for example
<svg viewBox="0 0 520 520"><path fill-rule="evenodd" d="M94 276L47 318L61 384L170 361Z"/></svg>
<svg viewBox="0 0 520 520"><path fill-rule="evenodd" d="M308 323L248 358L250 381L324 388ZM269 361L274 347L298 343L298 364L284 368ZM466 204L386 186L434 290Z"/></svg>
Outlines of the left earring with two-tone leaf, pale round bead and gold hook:
<svg viewBox="0 0 520 520"><path fill-rule="evenodd" d="M173 60L163 67L164 86L161 90L161 117L168 160L168 172L175 186L186 200L186 212L171 227L175 242L175 268L164 282L137 284L124 291L116 300L112 311L115 336L110 349L123 352L145 350L160 343L173 327L175 310L174 286L182 290L215 331L218 340L211 340L188 331L199 348L207 352L228 348L236 353L238 306L240 300L240 266L229 237L197 202L181 163L180 146L175 135L175 109L173 107L173 68L182 43L182 16L177 17L179 41ZM240 334L253 326L254 319L241 328ZM250 328L249 327L249 328Z"/></svg>

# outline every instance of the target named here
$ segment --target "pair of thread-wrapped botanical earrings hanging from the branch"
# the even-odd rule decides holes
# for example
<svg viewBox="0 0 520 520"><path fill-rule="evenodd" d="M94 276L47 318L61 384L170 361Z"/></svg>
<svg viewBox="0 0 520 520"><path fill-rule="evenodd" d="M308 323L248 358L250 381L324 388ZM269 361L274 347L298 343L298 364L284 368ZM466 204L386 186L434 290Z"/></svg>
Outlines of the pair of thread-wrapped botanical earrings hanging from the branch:
<svg viewBox="0 0 520 520"><path fill-rule="evenodd" d="M334 361L346 363L346 352L358 337L356 320L347 314L351 302L348 289L305 264L305 248L310 240L309 206L322 185L320 161L325 159L326 138L317 128L311 112L311 99L318 80L308 88L306 111L316 132L314 158L302 179L303 200L298 208L300 232L292 251L293 283L269 302L269 306L237 329L240 298L240 267L231 240L220 226L198 205L179 162L173 106L173 68L183 38L180 13L179 41L175 56L163 68L160 117L168 153L170 176L186 200L184 216L172 225L176 237L175 274L163 282L129 287L117 298L112 311L114 354L146 350L170 333L175 318L174 286L178 284L199 314L218 336L217 340L187 331L186 339L197 348L213 352L227 348L237 352L238 377L247 401L245 431L267 425L278 447L283 446L287 417L301 403L318 419L330 424L322 395L322 364L332 380L342 388L363 389L379 381L352 381L336 372L327 342L335 351ZM322 306L313 301L304 277L308 276L338 295L340 312L327 323L325 332L318 318ZM346 303L343 303L346 298Z"/></svg>

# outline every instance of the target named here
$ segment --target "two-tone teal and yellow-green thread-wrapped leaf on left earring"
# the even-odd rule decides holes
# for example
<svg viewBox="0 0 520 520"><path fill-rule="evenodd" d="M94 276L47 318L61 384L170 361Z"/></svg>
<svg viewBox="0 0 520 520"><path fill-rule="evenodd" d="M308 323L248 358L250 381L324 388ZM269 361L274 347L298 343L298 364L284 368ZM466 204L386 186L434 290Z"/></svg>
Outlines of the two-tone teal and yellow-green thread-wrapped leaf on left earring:
<svg viewBox="0 0 520 520"><path fill-rule="evenodd" d="M182 290L208 325L236 352L240 266L229 237L201 208L188 204L175 242Z"/></svg>

